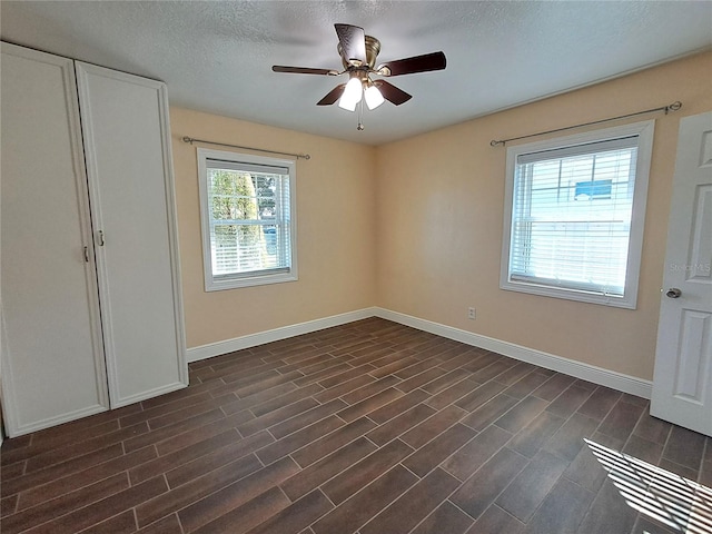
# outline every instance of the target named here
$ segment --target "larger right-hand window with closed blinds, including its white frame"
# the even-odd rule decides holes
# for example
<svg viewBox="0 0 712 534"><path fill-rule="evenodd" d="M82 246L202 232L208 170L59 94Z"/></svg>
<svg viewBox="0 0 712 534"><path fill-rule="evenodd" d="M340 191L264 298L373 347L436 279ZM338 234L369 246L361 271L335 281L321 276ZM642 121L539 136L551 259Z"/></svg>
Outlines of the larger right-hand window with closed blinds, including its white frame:
<svg viewBox="0 0 712 534"><path fill-rule="evenodd" d="M653 125L507 149L500 287L635 308Z"/></svg>

